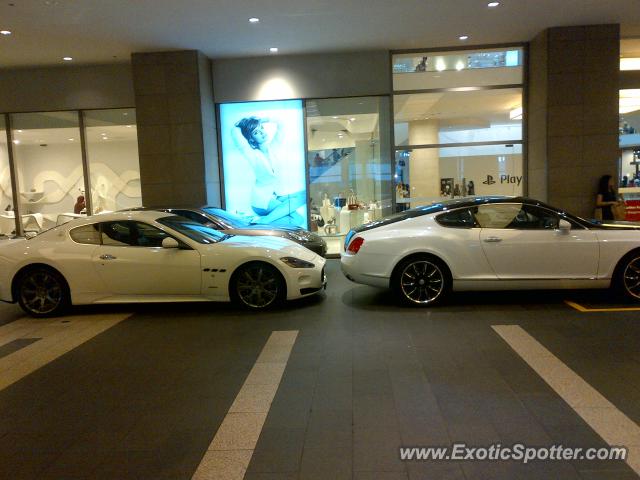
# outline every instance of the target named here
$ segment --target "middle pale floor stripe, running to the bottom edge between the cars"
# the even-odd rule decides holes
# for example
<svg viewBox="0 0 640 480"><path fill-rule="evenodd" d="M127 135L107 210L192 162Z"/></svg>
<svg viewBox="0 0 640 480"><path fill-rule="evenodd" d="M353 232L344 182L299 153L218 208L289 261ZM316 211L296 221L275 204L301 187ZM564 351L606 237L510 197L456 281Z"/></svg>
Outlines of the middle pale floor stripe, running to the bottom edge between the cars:
<svg viewBox="0 0 640 480"><path fill-rule="evenodd" d="M297 330L271 333L193 474L194 480L244 478L297 336Z"/></svg>

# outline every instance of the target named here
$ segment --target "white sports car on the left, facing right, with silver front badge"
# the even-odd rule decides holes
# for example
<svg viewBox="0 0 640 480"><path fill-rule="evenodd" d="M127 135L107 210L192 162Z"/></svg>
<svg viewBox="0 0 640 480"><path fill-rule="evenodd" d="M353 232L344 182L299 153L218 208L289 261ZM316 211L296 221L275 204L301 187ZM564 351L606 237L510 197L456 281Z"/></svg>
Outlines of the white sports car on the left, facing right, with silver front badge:
<svg viewBox="0 0 640 480"><path fill-rule="evenodd" d="M33 316L91 303L235 300L259 309L320 291L324 264L284 238L225 235L166 212L120 212L0 242L0 300Z"/></svg>

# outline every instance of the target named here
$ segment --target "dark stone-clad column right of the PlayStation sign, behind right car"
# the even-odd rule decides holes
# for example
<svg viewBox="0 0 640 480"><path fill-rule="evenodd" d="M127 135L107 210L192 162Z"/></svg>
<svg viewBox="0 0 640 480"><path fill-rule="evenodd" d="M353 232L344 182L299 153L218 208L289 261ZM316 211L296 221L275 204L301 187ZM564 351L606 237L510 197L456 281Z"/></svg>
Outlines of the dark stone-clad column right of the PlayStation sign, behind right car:
<svg viewBox="0 0 640 480"><path fill-rule="evenodd" d="M530 45L529 195L591 217L618 174L619 25L557 27Z"/></svg>

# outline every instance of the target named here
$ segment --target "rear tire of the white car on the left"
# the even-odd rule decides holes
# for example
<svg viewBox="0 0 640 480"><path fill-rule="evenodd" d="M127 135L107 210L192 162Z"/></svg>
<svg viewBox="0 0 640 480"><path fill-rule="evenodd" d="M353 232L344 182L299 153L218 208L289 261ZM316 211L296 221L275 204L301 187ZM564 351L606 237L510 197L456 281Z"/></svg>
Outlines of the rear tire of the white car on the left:
<svg viewBox="0 0 640 480"><path fill-rule="evenodd" d="M29 268L21 273L15 292L20 307L32 317L55 317L71 304L66 280L49 267Z"/></svg>

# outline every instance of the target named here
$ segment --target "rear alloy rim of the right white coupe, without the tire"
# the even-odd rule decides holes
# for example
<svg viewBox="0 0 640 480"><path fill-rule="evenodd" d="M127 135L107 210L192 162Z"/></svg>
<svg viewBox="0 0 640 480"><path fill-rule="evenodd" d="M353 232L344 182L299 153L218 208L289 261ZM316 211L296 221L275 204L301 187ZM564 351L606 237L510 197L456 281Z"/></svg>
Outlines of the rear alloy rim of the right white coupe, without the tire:
<svg viewBox="0 0 640 480"><path fill-rule="evenodd" d="M419 305L434 303L444 291L445 277L429 260L408 263L400 273L400 289L407 300Z"/></svg>

